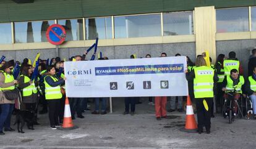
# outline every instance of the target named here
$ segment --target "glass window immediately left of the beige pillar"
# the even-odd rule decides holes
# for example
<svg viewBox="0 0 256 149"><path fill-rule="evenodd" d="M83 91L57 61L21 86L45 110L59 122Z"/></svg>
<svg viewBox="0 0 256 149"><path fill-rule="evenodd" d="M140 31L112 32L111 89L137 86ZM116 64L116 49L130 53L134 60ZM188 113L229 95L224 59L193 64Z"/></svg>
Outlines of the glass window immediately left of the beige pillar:
<svg viewBox="0 0 256 149"><path fill-rule="evenodd" d="M194 34L193 12L171 12L163 14L164 36Z"/></svg>

